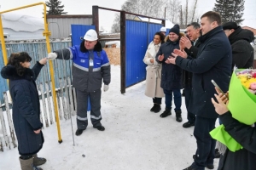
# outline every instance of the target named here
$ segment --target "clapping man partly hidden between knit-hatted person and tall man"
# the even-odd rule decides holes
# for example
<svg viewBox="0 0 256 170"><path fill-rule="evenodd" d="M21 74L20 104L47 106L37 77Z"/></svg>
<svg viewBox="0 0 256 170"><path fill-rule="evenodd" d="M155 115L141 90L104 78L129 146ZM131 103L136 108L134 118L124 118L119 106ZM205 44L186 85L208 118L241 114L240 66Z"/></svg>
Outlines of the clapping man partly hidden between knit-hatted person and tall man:
<svg viewBox="0 0 256 170"><path fill-rule="evenodd" d="M201 44L198 38L201 36L200 25L197 22L192 22L187 26L188 37L181 37L179 46L192 58L196 58L198 48ZM193 44L191 43L193 42ZM185 104L188 111L188 122L183 123L183 127L192 127L195 125L195 114L189 111L189 100L192 93L192 72L183 70L183 87L185 90Z"/></svg>

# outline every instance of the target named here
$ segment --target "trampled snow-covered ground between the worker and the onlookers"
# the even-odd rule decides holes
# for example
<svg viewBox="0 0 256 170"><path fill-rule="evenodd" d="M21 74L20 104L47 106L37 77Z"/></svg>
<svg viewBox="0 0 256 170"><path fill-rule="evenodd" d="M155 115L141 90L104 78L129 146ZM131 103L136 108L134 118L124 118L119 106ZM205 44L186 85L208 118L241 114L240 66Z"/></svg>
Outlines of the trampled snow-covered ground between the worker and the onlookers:
<svg viewBox="0 0 256 170"><path fill-rule="evenodd" d="M44 128L44 147L38 156L48 161L41 167L44 170L182 170L189 167L196 142L194 128L182 127L187 121L184 99L183 122L176 122L173 114L160 118L160 113L149 111L153 105L152 99L144 95L145 82L120 94L119 66L112 65L111 72L110 88L102 92L102 125L106 130L100 132L89 123L81 136L74 135L73 145L70 120L61 121L61 144L55 125ZM162 105L162 111L164 107ZM0 152L0 169L20 169L18 157L17 149ZM216 170L218 159L214 160L214 167Z"/></svg>

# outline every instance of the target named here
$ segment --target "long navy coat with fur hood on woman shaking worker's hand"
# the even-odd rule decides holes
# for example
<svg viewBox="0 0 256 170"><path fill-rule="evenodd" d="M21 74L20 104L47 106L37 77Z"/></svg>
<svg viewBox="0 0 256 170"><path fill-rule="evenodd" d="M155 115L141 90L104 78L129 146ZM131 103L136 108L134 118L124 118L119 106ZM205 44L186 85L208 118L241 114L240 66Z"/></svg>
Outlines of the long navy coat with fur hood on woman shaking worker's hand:
<svg viewBox="0 0 256 170"><path fill-rule="evenodd" d="M26 69L20 77L13 65L6 65L1 76L9 79L9 92L13 100L13 122L18 140L18 150L22 156L38 153L44 144L44 136L34 133L43 127L40 122L40 104L35 80L44 65L37 62L32 69Z"/></svg>

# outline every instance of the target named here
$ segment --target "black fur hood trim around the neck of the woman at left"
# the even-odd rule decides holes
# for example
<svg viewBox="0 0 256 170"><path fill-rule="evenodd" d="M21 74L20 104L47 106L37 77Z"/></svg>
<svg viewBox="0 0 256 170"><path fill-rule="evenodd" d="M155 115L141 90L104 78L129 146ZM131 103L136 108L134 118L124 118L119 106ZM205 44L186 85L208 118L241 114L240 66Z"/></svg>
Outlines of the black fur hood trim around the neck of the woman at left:
<svg viewBox="0 0 256 170"><path fill-rule="evenodd" d="M1 76L4 79L10 79L10 80L19 80L19 79L32 80L33 77L35 77L35 74L31 69L26 68L26 70L24 71L24 75L20 77L14 65L6 65L3 67L1 71Z"/></svg>

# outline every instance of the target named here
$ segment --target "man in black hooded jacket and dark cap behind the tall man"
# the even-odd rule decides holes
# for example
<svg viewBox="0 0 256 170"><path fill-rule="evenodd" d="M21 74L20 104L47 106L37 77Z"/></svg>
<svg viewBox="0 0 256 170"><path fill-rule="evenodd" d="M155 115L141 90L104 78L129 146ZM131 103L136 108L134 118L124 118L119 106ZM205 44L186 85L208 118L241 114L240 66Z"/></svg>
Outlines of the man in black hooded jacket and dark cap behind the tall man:
<svg viewBox="0 0 256 170"><path fill-rule="evenodd" d="M236 22L227 22L223 30L229 37L232 48L232 69L253 67L254 50L250 42L253 42L253 31L241 29Z"/></svg>

